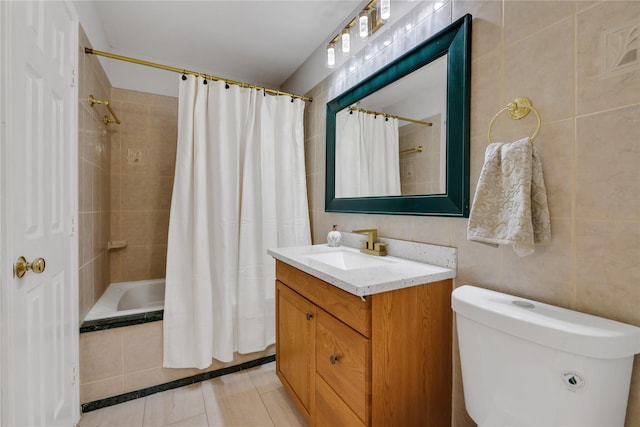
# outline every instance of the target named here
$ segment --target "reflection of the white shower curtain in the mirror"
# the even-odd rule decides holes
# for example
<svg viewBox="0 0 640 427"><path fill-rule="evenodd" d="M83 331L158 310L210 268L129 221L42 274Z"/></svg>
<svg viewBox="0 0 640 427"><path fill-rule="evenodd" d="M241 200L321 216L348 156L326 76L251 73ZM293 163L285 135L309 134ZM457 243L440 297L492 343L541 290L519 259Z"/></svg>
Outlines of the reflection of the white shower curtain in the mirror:
<svg viewBox="0 0 640 427"><path fill-rule="evenodd" d="M340 111L336 115L336 197L400 195L399 149L398 119Z"/></svg>

